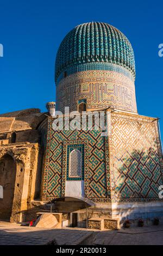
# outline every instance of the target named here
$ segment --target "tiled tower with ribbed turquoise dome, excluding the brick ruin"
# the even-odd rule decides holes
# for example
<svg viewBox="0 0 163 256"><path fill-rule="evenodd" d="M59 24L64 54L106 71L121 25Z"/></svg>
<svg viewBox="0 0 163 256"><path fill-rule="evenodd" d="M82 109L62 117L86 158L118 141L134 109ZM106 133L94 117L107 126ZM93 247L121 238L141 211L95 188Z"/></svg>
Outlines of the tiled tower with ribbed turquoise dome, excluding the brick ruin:
<svg viewBox="0 0 163 256"><path fill-rule="evenodd" d="M71 182L78 192L77 182L81 181L80 186L84 181L84 199L111 207L112 216L127 216L128 209L135 208L137 217L140 206L135 205L140 204L145 213L153 211L153 202L154 207L161 205L158 120L137 114L134 81L133 48L118 29L90 22L65 36L55 63L56 109L65 113L68 106L70 112L81 112L86 107L86 115L103 112L108 131L103 137L102 130L95 129L53 130L54 119L48 118L42 200L66 197L66 184L70 193ZM82 154L82 176L71 179L70 151L74 149ZM147 218L155 216L155 211L163 216L158 206Z"/></svg>

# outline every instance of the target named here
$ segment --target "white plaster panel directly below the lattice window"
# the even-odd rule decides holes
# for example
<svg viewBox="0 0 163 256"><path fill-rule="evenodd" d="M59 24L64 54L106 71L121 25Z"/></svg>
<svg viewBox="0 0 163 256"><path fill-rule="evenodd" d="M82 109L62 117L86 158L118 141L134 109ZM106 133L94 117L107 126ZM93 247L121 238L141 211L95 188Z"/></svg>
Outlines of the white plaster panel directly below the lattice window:
<svg viewBox="0 0 163 256"><path fill-rule="evenodd" d="M84 197L84 180L66 180L66 197Z"/></svg>

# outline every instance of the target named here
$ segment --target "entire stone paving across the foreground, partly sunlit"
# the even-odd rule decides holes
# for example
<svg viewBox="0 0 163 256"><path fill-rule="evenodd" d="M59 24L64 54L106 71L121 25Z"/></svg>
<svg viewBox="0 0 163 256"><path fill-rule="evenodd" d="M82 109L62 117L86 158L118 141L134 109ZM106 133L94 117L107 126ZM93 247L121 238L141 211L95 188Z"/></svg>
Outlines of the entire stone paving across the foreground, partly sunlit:
<svg viewBox="0 0 163 256"><path fill-rule="evenodd" d="M47 229L0 222L0 245L163 245L163 225L120 230Z"/></svg>

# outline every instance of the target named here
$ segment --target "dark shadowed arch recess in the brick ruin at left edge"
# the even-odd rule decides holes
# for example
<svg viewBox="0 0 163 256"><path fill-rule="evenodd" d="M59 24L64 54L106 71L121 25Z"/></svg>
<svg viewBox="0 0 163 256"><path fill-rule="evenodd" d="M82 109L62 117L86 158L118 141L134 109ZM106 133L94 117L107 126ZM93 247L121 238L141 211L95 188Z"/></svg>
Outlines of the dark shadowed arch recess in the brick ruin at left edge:
<svg viewBox="0 0 163 256"><path fill-rule="evenodd" d="M0 159L0 185L3 186L3 199L0 199L0 219L10 220L14 199L16 163L10 155Z"/></svg>

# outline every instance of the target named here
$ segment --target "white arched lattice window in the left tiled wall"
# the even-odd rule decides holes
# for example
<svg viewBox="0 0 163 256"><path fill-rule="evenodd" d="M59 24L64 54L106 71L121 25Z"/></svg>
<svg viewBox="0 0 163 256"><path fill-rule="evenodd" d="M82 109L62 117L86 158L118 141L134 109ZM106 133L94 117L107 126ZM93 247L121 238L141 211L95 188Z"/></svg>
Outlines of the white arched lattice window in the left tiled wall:
<svg viewBox="0 0 163 256"><path fill-rule="evenodd" d="M78 149L74 149L71 151L69 176L82 176L82 154Z"/></svg>

